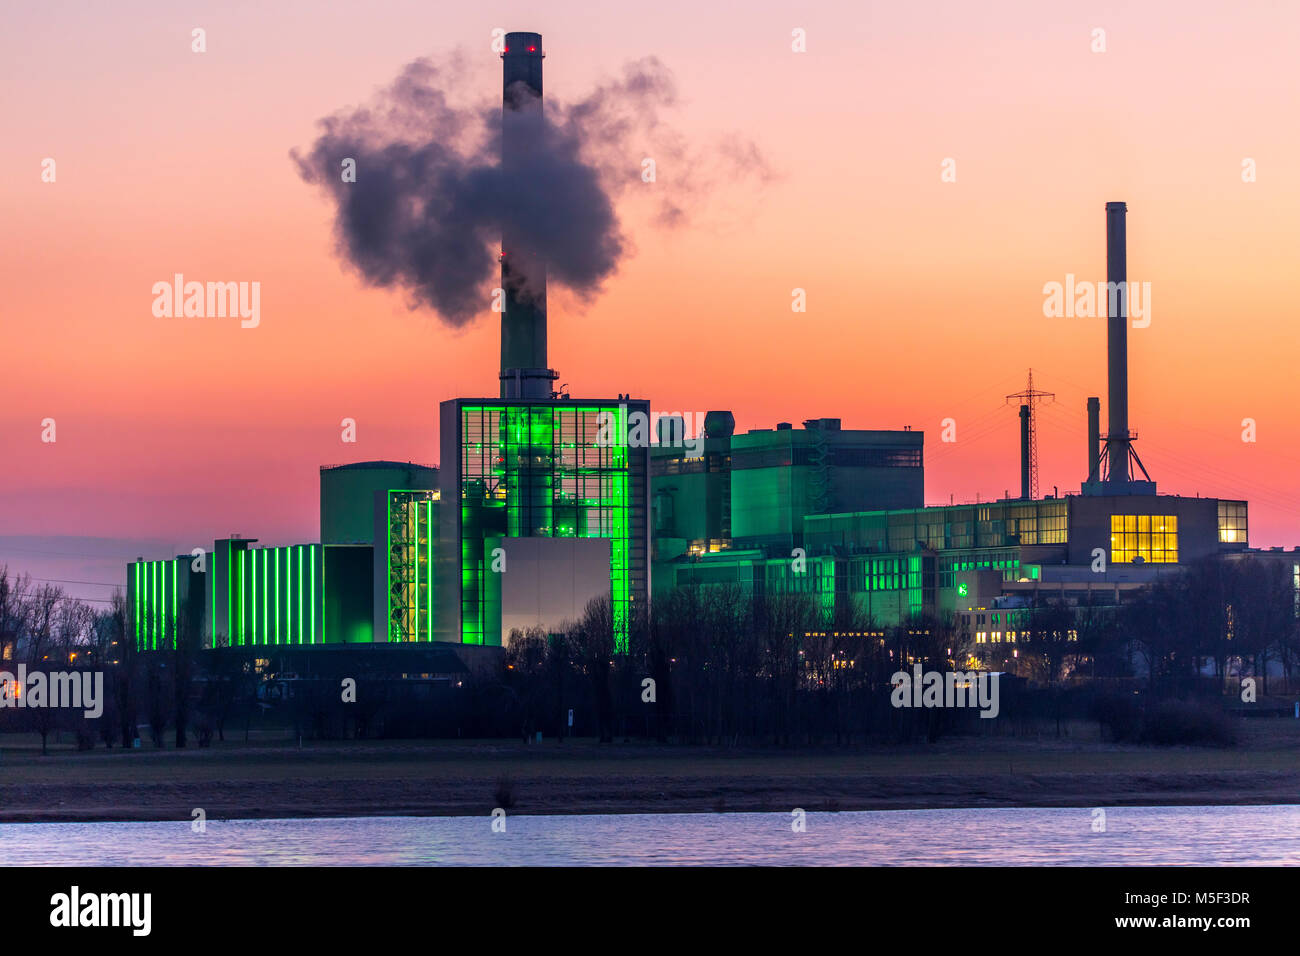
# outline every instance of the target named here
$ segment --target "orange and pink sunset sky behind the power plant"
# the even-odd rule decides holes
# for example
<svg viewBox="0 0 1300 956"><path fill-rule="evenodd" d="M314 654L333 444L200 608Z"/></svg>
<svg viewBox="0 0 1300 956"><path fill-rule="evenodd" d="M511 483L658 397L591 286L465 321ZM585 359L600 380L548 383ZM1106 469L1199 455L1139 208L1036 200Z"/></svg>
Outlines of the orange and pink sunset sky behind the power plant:
<svg viewBox="0 0 1300 956"><path fill-rule="evenodd" d="M1057 395L1040 486L1076 492L1088 395L1105 425L1105 328L1044 317L1043 286L1105 278L1104 207L1124 200L1128 276L1152 284L1128 337L1139 454L1161 492L1248 498L1252 545L1300 545L1295 3L53 0L0 17L0 564L107 597L136 554L316 540L322 463L437 463L438 402L497 393L490 299L452 330L365 286L290 151L416 57L460 51L498 96L495 27L543 34L549 99L658 57L690 152L738 137L771 170L672 229L620 199L618 274L588 303L550 299L575 397L731 408L740 429L910 425L927 501L946 503L1017 489L1004 395L1032 367ZM152 285L178 272L260 282L259 328L155 317Z"/></svg>

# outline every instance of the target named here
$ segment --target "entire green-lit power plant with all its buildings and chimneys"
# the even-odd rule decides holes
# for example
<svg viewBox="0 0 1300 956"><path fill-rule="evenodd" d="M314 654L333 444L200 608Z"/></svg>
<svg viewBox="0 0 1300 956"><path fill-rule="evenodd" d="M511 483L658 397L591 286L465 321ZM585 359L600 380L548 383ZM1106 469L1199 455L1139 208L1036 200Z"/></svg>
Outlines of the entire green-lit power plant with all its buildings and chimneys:
<svg viewBox="0 0 1300 956"><path fill-rule="evenodd" d="M524 164L541 121L542 38L502 52L503 165ZM1244 551L1247 503L1158 494L1128 421L1124 203L1106 203L1108 431L1087 402L1080 493L1036 493L1032 377L1019 408L1018 497L927 507L924 434L810 418L736 433L710 411L685 421L628 395L571 398L547 356L545 256L502 235L499 394L439 410L437 467L322 467L318 542L255 548L230 536L202 555L127 568L135 637L170 646L442 644L467 665L516 631L554 632L595 597L618 648L654 596L727 585L812 596L893 624L952 615L976 644L1014 643L1044 596L1118 605L1199 558ZM653 432L653 433L651 433ZM1136 477L1140 472L1141 479Z"/></svg>

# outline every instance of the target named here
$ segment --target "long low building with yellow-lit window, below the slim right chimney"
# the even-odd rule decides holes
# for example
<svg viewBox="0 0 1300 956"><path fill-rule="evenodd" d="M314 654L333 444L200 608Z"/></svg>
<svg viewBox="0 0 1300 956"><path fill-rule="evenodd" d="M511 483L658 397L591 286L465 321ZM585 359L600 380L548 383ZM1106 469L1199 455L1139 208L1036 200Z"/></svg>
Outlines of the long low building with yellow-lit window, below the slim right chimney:
<svg viewBox="0 0 1300 956"><path fill-rule="evenodd" d="M723 550L656 575L660 587L812 593L828 619L850 606L881 626L956 615L983 644L1014 641L1006 609L1041 598L1118 605L1161 574L1245 545L1242 501L1065 496L805 515L798 563L776 548Z"/></svg>

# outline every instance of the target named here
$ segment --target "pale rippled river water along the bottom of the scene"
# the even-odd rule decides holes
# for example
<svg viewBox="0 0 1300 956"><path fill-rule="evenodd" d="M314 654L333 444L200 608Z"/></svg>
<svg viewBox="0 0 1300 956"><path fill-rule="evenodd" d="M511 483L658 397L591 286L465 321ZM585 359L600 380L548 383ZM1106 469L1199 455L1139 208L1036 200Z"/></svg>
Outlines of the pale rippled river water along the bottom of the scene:
<svg viewBox="0 0 1300 956"><path fill-rule="evenodd" d="M6 865L1300 864L1300 806L0 823Z"/></svg>

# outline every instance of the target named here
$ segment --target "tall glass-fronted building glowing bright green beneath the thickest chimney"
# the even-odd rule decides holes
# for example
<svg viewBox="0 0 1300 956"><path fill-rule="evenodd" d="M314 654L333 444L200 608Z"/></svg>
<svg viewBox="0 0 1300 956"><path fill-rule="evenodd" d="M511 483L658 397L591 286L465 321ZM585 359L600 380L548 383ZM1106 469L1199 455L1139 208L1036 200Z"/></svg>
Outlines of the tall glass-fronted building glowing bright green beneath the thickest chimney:
<svg viewBox="0 0 1300 956"><path fill-rule="evenodd" d="M649 411L647 402L629 399L442 403L442 501L448 506L439 528L439 640L499 645L506 568L524 578L538 572L534 562L572 554L517 549L530 564L520 568L508 563L519 538L607 541L602 587L618 640L625 640L650 588ZM537 593L538 624L572 619L584 597L595 593L590 581L569 587Z"/></svg>

